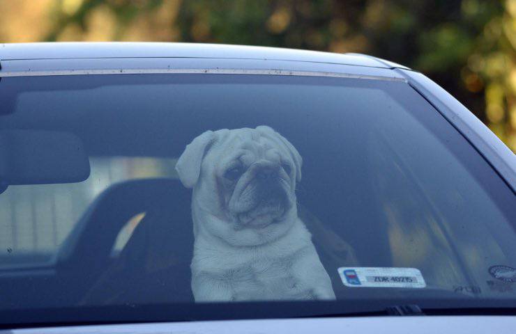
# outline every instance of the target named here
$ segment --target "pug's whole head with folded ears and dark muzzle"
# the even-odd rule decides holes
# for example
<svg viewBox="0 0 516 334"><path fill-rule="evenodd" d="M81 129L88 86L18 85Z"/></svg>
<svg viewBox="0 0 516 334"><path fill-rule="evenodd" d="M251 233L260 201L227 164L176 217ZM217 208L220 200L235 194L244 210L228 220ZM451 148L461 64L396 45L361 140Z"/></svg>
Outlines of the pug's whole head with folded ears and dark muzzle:
<svg viewBox="0 0 516 334"><path fill-rule="evenodd" d="M176 170L194 188L195 230L255 246L277 239L295 221L301 156L270 127L205 132L187 146Z"/></svg>

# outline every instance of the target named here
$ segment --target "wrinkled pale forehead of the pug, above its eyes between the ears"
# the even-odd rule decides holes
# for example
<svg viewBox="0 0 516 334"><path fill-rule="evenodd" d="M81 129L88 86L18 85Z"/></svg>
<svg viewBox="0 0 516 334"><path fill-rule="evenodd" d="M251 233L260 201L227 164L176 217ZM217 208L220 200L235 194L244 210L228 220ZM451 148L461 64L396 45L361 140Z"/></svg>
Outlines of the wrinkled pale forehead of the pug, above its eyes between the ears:
<svg viewBox="0 0 516 334"><path fill-rule="evenodd" d="M243 164L251 164L257 159L289 159L287 147L278 136L259 132L257 129L235 129L223 133L213 145L211 154L220 159L220 165L236 159Z"/></svg>

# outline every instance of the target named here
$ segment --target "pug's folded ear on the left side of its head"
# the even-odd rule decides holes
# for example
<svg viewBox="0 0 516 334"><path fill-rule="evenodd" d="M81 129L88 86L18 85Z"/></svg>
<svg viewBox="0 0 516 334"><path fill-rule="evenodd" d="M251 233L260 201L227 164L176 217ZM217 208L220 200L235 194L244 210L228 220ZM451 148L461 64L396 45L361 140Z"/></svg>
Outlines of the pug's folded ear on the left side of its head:
<svg viewBox="0 0 516 334"><path fill-rule="evenodd" d="M206 148L215 140L213 131L206 131L204 134L194 138L192 143L186 145L185 151L177 160L176 170L179 180L183 186L193 188L201 174L201 164Z"/></svg>

